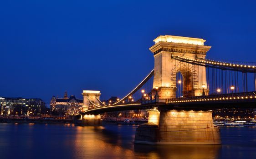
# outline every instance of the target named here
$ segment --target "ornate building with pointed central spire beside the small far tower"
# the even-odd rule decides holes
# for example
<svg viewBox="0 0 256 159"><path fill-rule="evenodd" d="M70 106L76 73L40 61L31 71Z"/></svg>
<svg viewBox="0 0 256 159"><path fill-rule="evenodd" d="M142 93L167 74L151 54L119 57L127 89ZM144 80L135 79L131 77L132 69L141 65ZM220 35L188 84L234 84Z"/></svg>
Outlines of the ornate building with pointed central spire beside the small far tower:
<svg viewBox="0 0 256 159"><path fill-rule="evenodd" d="M82 103L82 99L76 99L74 95L68 98L66 91L64 98L52 96L50 103L51 112L53 115L74 115L81 111Z"/></svg>

